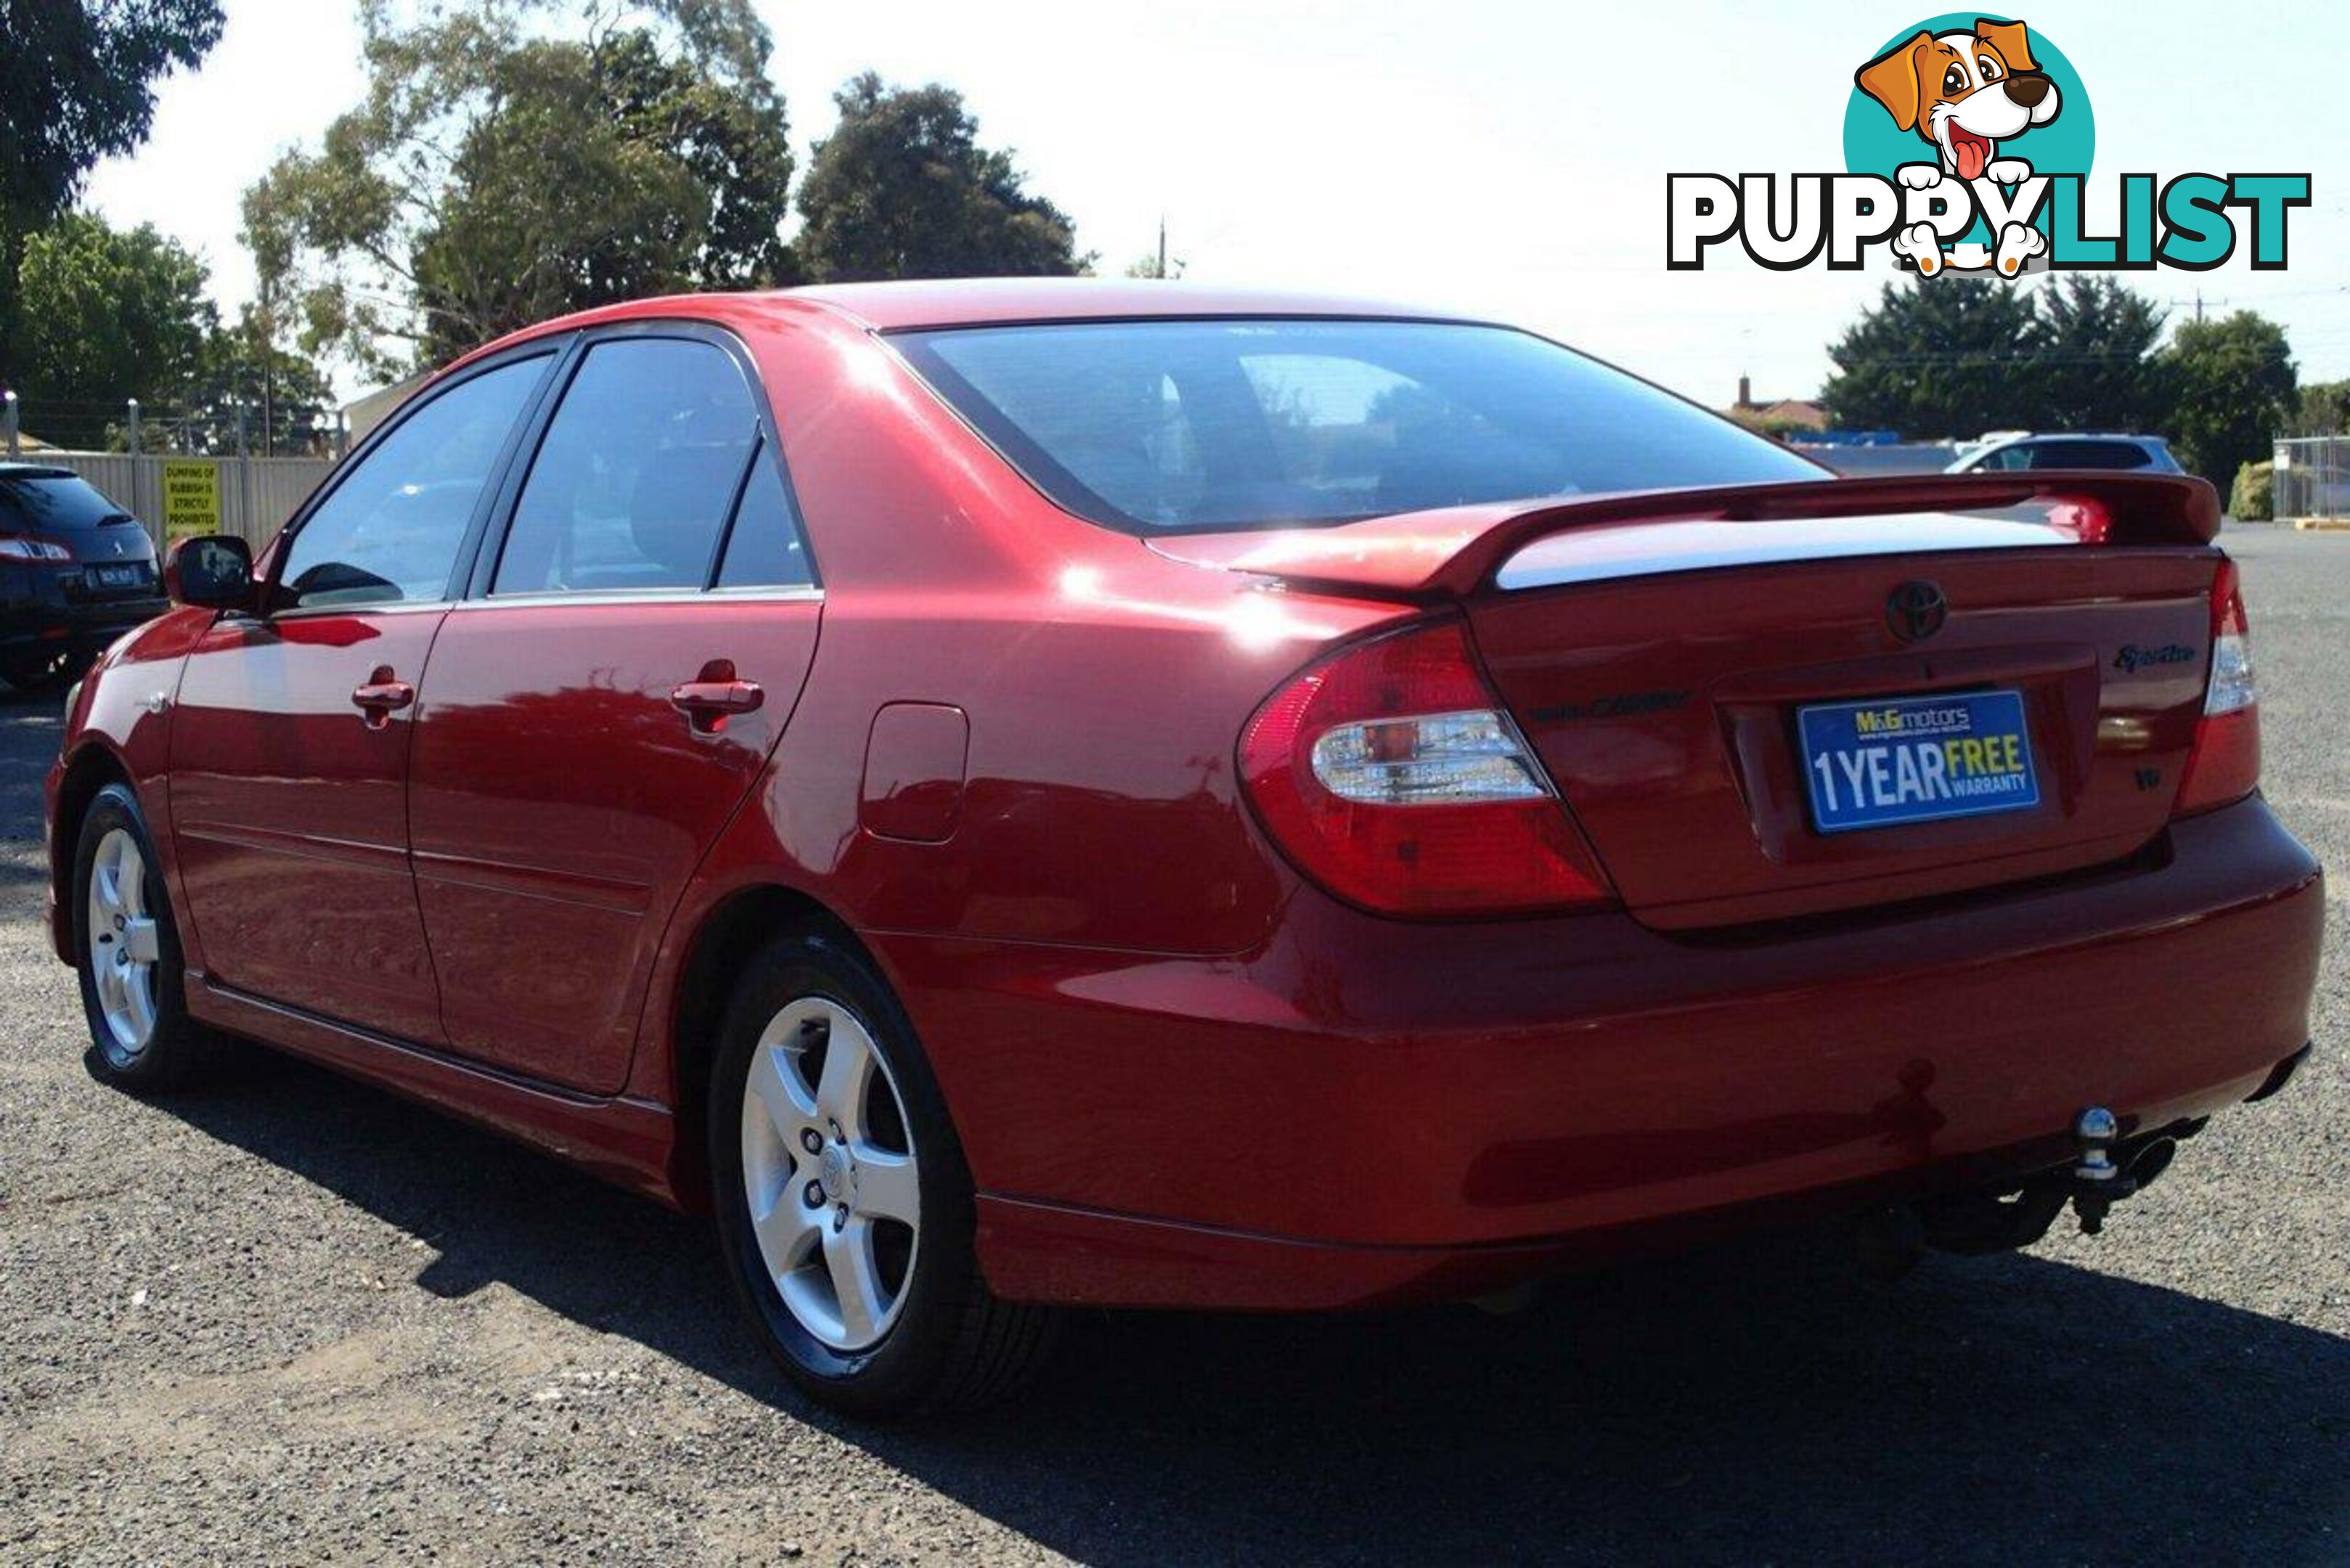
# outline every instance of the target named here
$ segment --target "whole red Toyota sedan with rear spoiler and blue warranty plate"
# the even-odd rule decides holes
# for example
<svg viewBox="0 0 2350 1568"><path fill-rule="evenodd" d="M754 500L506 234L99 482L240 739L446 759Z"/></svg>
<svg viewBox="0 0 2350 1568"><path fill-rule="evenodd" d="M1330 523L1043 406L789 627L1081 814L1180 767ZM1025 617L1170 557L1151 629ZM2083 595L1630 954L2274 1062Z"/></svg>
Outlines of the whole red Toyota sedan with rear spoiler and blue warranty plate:
<svg viewBox="0 0 2350 1568"><path fill-rule="evenodd" d="M258 1039L707 1211L862 1413L1055 1305L2023 1246L2308 1048L2216 531L1478 320L644 301L181 545L70 708L54 943L101 1079Z"/></svg>

